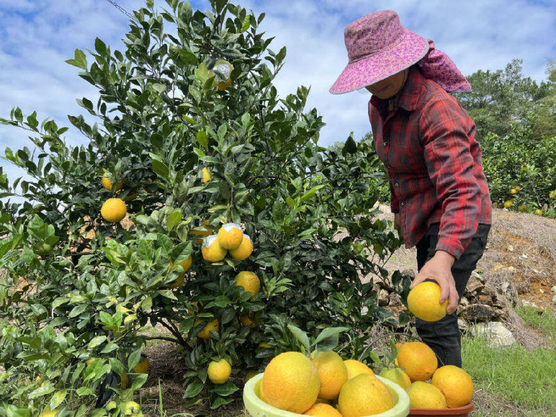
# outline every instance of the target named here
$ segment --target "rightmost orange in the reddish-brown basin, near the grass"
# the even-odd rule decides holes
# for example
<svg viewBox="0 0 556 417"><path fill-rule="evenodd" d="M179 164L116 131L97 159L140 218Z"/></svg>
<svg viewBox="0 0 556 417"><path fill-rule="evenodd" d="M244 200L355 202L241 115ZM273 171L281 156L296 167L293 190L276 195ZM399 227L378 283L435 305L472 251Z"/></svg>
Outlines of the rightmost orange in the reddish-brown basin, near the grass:
<svg viewBox="0 0 556 417"><path fill-rule="evenodd" d="M471 376L457 366L445 365L438 368L430 383L442 391L450 408L463 407L473 398Z"/></svg>

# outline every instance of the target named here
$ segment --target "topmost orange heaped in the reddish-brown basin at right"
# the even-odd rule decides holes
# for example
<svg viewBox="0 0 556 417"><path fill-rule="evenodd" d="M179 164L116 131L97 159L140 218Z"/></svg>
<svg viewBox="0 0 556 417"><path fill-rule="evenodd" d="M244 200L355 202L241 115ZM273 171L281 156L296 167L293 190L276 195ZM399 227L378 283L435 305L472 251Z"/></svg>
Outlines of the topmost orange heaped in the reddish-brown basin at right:
<svg viewBox="0 0 556 417"><path fill-rule="evenodd" d="M398 364L411 381L427 381L438 366L436 354L422 342L407 342L398 351Z"/></svg>

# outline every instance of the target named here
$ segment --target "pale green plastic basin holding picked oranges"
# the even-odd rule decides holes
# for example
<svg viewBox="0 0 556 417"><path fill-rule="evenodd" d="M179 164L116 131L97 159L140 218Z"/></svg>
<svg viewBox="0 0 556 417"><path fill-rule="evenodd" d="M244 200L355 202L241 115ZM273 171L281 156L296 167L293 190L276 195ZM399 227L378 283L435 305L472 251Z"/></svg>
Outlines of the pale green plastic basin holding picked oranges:
<svg viewBox="0 0 556 417"><path fill-rule="evenodd" d="M395 406L393 409L384 411L384 413L373 414L373 417L407 417L409 414L409 396L402 389L401 386L391 382L389 379L379 377L388 389L390 390ZM285 411L272 407L272 405L267 404L257 394L259 392L259 386L261 385L261 379L263 379L263 374L260 373L252 377L247 384L243 387L243 404L245 404L245 409L252 417L301 417L302 414L291 413L290 411ZM367 417L367 416L365 416Z"/></svg>

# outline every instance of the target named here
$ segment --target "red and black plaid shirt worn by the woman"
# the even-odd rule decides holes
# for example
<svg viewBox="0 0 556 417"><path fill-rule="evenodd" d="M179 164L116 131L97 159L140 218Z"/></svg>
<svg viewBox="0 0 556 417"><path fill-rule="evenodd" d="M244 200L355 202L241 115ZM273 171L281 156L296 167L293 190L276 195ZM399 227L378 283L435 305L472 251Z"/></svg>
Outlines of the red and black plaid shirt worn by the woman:
<svg viewBox="0 0 556 417"><path fill-rule="evenodd" d="M440 222L436 250L459 259L477 231L491 224L489 187L475 123L459 101L411 67L398 106L371 97L377 154L390 179L391 210L400 213L406 247Z"/></svg>

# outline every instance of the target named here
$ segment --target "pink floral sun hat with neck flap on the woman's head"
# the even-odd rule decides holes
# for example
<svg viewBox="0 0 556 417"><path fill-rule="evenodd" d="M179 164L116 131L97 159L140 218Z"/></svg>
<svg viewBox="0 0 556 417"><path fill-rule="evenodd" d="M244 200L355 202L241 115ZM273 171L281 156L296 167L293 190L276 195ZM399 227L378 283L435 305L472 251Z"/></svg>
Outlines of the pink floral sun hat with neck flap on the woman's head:
<svg viewBox="0 0 556 417"><path fill-rule="evenodd" d="M471 91L450 57L400 24L393 10L369 13L344 31L349 61L330 92L343 94L381 81L417 63L421 73L449 92Z"/></svg>

